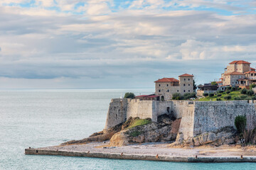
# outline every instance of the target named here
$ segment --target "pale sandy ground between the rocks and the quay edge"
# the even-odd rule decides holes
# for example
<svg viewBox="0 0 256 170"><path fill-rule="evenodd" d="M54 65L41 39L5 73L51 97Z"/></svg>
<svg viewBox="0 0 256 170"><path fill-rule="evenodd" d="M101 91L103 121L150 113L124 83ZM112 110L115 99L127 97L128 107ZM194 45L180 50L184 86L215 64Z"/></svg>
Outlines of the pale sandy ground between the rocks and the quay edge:
<svg viewBox="0 0 256 170"><path fill-rule="evenodd" d="M92 142L85 145L66 145L42 147L40 149L78 151L78 152L100 152L100 153L124 153L124 154L159 154L177 157L256 157L256 147L228 146L221 147L193 147L193 148L171 148L168 143L145 143L141 145L129 145L123 147L107 147L108 142Z"/></svg>

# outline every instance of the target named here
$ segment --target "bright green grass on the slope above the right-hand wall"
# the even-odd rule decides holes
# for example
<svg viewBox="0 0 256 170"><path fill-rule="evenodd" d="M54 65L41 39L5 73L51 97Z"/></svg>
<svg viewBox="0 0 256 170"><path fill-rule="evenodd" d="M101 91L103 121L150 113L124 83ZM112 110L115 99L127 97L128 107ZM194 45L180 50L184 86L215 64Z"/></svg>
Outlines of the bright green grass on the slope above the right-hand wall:
<svg viewBox="0 0 256 170"><path fill-rule="evenodd" d="M241 96L245 96L245 94L241 94L240 91L231 91L229 94L223 92L221 93L222 95L221 96L217 96L216 94L212 97L210 96L207 96L205 98L200 98L198 101L217 101L217 98L220 98L221 101L227 101L227 96L231 96L230 99L228 99L228 101L236 101L238 100L238 98L241 98ZM247 96L247 95L246 95ZM252 96L247 96L246 100L248 98L252 98Z"/></svg>

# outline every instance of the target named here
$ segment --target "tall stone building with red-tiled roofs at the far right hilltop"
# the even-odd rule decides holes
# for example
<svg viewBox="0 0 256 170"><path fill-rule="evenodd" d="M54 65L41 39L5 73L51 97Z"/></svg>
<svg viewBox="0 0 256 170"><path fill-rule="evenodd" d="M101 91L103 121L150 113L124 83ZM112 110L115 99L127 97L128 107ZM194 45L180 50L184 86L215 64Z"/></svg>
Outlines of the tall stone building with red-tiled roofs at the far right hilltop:
<svg viewBox="0 0 256 170"><path fill-rule="evenodd" d="M256 72L250 64L243 60L230 62L225 72L221 74L223 86L239 86L249 89L250 84L256 84Z"/></svg>

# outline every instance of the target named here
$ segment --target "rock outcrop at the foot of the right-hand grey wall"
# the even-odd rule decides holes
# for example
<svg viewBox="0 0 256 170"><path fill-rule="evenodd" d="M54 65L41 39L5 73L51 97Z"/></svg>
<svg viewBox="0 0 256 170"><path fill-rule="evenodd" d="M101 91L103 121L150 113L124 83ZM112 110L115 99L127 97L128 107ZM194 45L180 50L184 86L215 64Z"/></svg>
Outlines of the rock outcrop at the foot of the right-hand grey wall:
<svg viewBox="0 0 256 170"><path fill-rule="evenodd" d="M198 147L201 145L230 145L236 143L237 131L231 127L225 127L213 132L202 132L196 137L191 137L188 140L183 140L183 135L178 134L176 142L172 143L170 146L180 146L180 147Z"/></svg>

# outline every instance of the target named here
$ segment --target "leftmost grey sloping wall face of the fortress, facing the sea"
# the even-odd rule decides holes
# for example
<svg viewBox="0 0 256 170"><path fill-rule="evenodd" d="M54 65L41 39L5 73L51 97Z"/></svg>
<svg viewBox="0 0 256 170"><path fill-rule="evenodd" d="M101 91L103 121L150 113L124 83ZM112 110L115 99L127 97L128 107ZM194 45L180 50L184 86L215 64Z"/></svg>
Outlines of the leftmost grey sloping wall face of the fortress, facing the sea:
<svg viewBox="0 0 256 170"><path fill-rule="evenodd" d="M127 120L127 106L131 99L112 98L107 112L107 120L104 130L114 127Z"/></svg>

